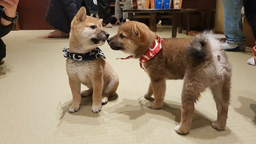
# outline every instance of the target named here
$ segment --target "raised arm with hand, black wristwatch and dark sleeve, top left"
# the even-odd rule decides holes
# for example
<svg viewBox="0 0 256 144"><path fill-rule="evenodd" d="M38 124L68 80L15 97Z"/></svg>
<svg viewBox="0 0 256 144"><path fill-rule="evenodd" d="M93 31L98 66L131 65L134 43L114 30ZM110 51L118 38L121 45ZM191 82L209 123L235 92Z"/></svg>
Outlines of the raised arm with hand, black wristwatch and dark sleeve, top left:
<svg viewBox="0 0 256 144"><path fill-rule="evenodd" d="M16 9L19 0L0 0L0 15L3 15L3 7L5 7L5 14L8 17L15 18ZM0 19L0 38L8 34L13 27L13 24L5 19Z"/></svg>

